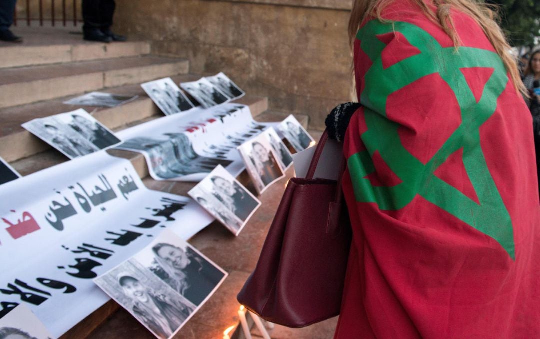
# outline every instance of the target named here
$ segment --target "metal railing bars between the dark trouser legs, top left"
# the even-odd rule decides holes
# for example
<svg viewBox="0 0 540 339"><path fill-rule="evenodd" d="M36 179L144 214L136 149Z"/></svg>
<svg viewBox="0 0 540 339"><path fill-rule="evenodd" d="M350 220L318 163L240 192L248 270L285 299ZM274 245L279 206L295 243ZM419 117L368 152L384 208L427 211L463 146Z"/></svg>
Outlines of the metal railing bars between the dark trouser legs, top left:
<svg viewBox="0 0 540 339"><path fill-rule="evenodd" d="M21 0L19 0L20 2L22 2ZM23 0L24 1L24 0ZM56 13L56 4L58 2L62 2L62 14L61 14L61 17L62 18L58 18L57 17L57 13ZM68 18L68 5L66 4L66 2L72 2L72 17L71 18ZM18 24L20 24L21 21L25 21L26 22L26 25L27 26L31 26L32 24L32 21L36 21L38 20L39 21L39 26L43 26L44 22L51 22L51 25L54 27L56 25L57 22L61 22L63 24L63 26L67 26L68 22L72 22L74 26L77 26L78 23L82 22L82 20L80 20L78 18L78 8L77 8L77 0L59 0L59 1L56 1L55 0L46 0L45 2L49 3L50 4L50 17L45 17L46 13L45 13L45 10L44 10L44 0L37 0L38 2L38 9L37 9L37 14L38 14L38 17L33 17L34 13L33 13L33 9L35 10L35 6L32 6L36 4L36 1L31 1L31 0L25 0L25 2L23 3L23 6L25 6L25 10L23 10L23 14L20 15L19 13L17 13L17 9L15 9L15 20L14 20L14 25L17 26ZM71 10L70 9L70 10ZM21 18L23 17L23 18Z"/></svg>

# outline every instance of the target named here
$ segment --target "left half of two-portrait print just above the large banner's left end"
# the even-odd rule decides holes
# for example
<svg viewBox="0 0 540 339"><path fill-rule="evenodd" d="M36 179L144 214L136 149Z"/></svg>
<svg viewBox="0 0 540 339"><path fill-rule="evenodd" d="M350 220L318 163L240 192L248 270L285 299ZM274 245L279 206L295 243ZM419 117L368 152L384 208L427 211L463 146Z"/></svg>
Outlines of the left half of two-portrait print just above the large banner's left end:
<svg viewBox="0 0 540 339"><path fill-rule="evenodd" d="M58 120L56 116L34 119L23 123L22 126L70 159L99 150L92 142L84 139L82 135Z"/></svg>

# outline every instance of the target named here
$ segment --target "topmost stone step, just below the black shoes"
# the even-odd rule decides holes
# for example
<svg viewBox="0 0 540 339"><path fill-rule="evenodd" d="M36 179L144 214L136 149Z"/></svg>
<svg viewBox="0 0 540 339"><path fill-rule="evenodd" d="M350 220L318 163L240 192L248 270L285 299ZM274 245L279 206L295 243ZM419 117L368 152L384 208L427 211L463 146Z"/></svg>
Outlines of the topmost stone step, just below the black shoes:
<svg viewBox="0 0 540 339"><path fill-rule="evenodd" d="M13 27L21 44L0 41L0 68L73 63L150 54L148 41L94 43L84 41L82 27Z"/></svg>

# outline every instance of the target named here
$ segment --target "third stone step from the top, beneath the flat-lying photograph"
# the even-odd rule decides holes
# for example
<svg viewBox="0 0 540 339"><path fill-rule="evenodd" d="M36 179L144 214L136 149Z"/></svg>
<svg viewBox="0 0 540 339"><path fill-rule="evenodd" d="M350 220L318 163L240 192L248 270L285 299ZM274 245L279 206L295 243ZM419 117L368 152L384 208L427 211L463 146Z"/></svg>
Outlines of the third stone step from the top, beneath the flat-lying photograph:
<svg viewBox="0 0 540 339"><path fill-rule="evenodd" d="M200 77L200 75L186 74L172 77L172 79L178 84L179 82L194 81ZM98 121L105 124L105 126L113 130L118 130L148 119L163 116L161 110L154 105L140 85L120 86L106 89L104 92L139 95L139 98L114 108L65 105L62 102L73 97L68 96L50 101L0 109L0 121L2 121L2 124L0 124L0 156L6 161L12 162L49 149L50 146L47 143L39 140L36 136L21 127L21 124L39 117L84 108ZM236 102L249 105L254 116L268 109L268 99L259 96L245 96Z"/></svg>

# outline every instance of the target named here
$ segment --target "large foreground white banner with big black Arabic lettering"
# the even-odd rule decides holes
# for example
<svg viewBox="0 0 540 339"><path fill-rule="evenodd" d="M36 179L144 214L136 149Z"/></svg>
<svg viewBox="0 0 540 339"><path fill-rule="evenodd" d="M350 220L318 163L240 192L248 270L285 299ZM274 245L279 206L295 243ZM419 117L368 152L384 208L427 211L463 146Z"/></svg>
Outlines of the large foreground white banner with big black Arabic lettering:
<svg viewBox="0 0 540 339"><path fill-rule="evenodd" d="M0 317L25 303L59 336L109 296L93 283L164 227L188 239L213 218L187 197L147 189L104 151L0 186Z"/></svg>

